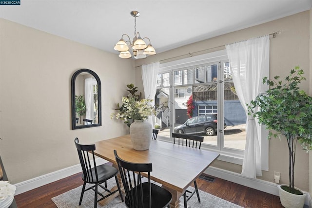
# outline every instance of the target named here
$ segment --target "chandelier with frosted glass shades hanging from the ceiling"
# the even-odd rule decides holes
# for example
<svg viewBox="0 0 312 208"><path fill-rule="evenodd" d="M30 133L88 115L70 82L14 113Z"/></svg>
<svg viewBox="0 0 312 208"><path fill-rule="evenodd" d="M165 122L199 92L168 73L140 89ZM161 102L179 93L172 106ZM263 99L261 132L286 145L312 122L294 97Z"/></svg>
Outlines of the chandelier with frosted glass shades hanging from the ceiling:
<svg viewBox="0 0 312 208"><path fill-rule="evenodd" d="M132 11L131 16L135 18L135 37L131 42L130 37L127 34L123 34L121 39L114 46L114 50L119 51L120 54L118 57L120 58L131 58L132 55L130 53L130 48L132 49L132 53L134 58L146 58L148 55L155 55L156 51L151 44L150 38L141 38L139 32L137 32L136 24L137 17L140 16L138 11ZM124 41L123 37L128 37L128 40ZM144 39L148 39L149 43L146 45Z"/></svg>

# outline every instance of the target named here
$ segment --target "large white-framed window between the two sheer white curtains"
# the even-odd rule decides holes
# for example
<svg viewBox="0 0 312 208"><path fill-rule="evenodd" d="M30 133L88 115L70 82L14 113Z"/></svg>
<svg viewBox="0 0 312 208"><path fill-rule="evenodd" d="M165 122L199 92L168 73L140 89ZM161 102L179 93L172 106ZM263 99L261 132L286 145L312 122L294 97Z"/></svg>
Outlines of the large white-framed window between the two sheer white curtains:
<svg viewBox="0 0 312 208"><path fill-rule="evenodd" d="M246 115L235 94L229 62L227 60L208 62L159 74L158 77L163 77L163 81L158 86L168 85L169 83L165 81L170 80L170 74L173 76L174 82L174 86L172 86L174 96L171 96L172 99L170 100L171 103L174 103L172 105L172 112L174 113L171 114L173 116L171 124L176 127L189 119L186 104L189 97L193 95L193 118L189 119L187 123L195 122L196 116L198 116L197 122L199 122L200 117L206 118L201 115L209 117L212 114L214 114L214 122L217 123L213 127L214 133L203 134L205 136L205 144L203 145L209 149L243 155L246 143L244 131ZM194 83L192 80L195 80ZM186 96L185 89L191 89L190 93L187 94L188 96ZM168 93L170 94L170 91ZM183 101L181 101L182 99ZM205 128L208 128L208 125L201 128L204 129L196 132L206 132Z"/></svg>

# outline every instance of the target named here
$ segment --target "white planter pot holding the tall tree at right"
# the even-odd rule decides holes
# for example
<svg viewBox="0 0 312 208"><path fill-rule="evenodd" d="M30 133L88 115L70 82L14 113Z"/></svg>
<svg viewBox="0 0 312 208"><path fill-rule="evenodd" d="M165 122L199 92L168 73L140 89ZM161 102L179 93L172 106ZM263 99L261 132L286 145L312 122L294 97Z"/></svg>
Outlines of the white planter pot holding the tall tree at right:
<svg viewBox="0 0 312 208"><path fill-rule="evenodd" d="M295 189L300 190L303 195L297 195L297 194L292 194L290 192L287 192L281 188L281 186L289 186L286 184L280 184L278 185L278 192L279 192L279 199L281 201L281 204L285 208L303 208L304 206L304 201L306 199L306 194L295 187Z"/></svg>

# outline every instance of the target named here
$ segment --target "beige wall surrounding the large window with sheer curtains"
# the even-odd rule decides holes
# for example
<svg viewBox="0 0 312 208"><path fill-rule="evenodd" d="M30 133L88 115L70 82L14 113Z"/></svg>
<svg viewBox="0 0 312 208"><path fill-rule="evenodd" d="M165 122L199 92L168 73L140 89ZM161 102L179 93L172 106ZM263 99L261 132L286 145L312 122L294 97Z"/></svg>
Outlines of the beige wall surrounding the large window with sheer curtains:
<svg viewBox="0 0 312 208"><path fill-rule="evenodd" d="M189 57L189 53L193 53L193 56L209 53L216 50L224 49L225 44L241 41L248 38L259 37L267 34L271 34L275 31L282 31L282 34L277 38L273 38L270 41L270 76L286 76L290 70L299 65L306 76L307 81L302 83L302 89L309 92L311 88L311 70L309 61L309 37L310 37L310 12L302 12L296 15L292 15L283 19L274 20L268 23L260 24L254 27L250 27L237 32L229 33L226 35L218 36L215 38L200 41L194 44L190 44L184 47L177 48L168 52L160 53L152 57L148 57L143 60L137 60L137 72L141 72L141 65L158 60L167 62L175 59L181 59ZM157 47L157 46L155 46ZM202 51L194 53L197 51ZM185 55L185 56L182 56ZM177 57L177 58L171 58ZM137 84L142 82L139 76L136 76ZM263 138L266 139L266 138ZM300 189L309 190L309 157L304 151L298 147L296 156L295 167L295 186ZM213 166L222 168L225 170L231 170L234 172L241 172L241 166L234 165L227 162L216 161ZM273 172L278 171L281 173L281 183L288 183L288 149L287 142L285 140L279 141L278 139L272 139L269 142L269 171L263 171L263 176L260 179L274 182Z"/></svg>

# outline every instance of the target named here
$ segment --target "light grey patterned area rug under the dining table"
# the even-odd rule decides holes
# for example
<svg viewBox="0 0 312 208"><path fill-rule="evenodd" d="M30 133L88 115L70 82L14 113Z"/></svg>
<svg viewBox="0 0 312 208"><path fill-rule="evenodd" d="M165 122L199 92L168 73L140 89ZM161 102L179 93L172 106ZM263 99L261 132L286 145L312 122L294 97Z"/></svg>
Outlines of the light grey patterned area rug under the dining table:
<svg viewBox="0 0 312 208"><path fill-rule="evenodd" d="M107 187L110 189L116 186L115 180L109 180ZM59 196L53 197L52 201L56 204L58 208L93 208L94 207L94 191L88 190L84 192L82 203L80 206L79 199L82 186L69 190ZM101 189L101 188L99 188ZM190 190L194 189L189 187ZM218 198L212 194L199 190L200 203L197 200L196 195L194 195L188 202L188 208L242 208L231 202ZM98 197L100 197L98 195ZM184 208L183 196L180 198L180 207ZM101 206L98 203L98 208L126 208L124 202L121 202L120 197L116 197L113 201L105 206Z"/></svg>

